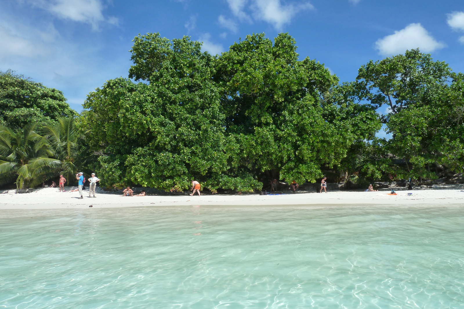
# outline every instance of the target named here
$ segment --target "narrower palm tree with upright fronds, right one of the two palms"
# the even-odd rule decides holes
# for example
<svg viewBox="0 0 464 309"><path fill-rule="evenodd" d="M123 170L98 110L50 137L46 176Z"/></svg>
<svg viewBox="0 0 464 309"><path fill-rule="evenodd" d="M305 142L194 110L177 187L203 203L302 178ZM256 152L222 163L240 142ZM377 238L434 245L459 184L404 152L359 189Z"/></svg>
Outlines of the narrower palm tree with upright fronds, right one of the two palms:
<svg viewBox="0 0 464 309"><path fill-rule="evenodd" d="M71 179L76 172L77 158L77 128L74 117L58 118L58 123L42 127L44 136L53 151L53 158L61 162L60 173L67 179Z"/></svg>

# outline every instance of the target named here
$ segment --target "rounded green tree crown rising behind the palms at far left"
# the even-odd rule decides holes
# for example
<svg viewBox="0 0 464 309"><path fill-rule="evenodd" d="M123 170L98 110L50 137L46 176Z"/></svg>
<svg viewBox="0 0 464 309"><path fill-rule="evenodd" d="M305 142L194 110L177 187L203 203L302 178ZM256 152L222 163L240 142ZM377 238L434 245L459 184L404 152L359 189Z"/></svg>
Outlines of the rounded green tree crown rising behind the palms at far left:
<svg viewBox="0 0 464 309"><path fill-rule="evenodd" d="M30 122L52 124L58 117L74 115L61 91L0 71L0 126L21 131Z"/></svg>

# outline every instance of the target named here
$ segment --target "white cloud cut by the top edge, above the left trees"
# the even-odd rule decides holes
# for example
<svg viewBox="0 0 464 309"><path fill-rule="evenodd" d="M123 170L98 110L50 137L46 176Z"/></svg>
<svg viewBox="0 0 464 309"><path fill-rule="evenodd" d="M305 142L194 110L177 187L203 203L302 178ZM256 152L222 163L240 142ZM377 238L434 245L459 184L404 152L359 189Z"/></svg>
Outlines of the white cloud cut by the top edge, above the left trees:
<svg viewBox="0 0 464 309"><path fill-rule="evenodd" d="M103 3L101 0L35 0L33 5L45 9L61 19L71 19L92 25L94 29L98 24L107 21L112 25L118 24L116 17L103 17Z"/></svg>

